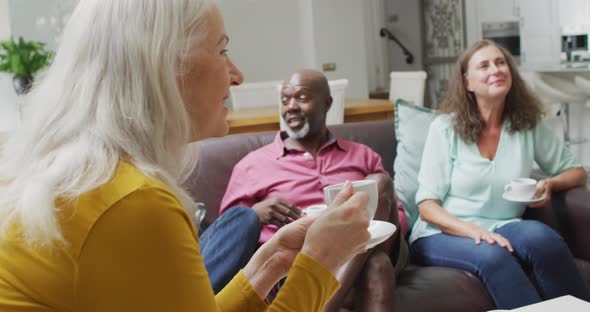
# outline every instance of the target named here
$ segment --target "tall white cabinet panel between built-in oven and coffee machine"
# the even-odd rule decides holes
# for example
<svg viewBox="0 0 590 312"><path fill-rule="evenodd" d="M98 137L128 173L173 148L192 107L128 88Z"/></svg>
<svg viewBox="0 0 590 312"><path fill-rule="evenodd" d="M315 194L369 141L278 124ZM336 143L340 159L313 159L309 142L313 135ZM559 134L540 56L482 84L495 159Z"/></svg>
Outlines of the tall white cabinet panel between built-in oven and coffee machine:
<svg viewBox="0 0 590 312"><path fill-rule="evenodd" d="M557 0L518 0L521 63L535 68L559 65L561 35Z"/></svg>

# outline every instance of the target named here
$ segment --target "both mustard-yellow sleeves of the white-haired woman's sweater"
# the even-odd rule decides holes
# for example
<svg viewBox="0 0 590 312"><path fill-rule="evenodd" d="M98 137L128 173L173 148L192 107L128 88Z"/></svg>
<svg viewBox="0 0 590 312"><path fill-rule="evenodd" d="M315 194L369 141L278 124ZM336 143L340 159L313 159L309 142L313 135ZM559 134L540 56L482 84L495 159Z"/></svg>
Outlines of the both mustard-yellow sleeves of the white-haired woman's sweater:
<svg viewBox="0 0 590 312"><path fill-rule="evenodd" d="M75 311L321 311L339 284L298 255L273 304L242 272L213 295L198 239L178 200L146 187L111 206L80 251Z"/></svg>

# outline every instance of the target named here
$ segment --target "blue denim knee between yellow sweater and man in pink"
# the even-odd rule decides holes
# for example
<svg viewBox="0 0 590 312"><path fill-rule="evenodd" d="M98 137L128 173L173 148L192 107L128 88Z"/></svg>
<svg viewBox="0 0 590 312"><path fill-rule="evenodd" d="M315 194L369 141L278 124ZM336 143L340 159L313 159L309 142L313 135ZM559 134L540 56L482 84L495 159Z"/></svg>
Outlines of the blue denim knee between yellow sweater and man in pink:
<svg viewBox="0 0 590 312"><path fill-rule="evenodd" d="M201 234L201 255L214 293L250 261L258 248L261 227L253 209L232 207Z"/></svg>

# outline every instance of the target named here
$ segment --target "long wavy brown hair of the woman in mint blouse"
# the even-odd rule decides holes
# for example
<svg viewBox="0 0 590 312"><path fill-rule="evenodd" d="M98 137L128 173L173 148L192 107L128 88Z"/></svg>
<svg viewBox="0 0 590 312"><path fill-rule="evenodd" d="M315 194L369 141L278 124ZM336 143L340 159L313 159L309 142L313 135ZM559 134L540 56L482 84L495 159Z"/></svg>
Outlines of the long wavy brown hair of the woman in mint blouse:
<svg viewBox="0 0 590 312"><path fill-rule="evenodd" d="M502 120L509 121L509 131L516 132L534 128L544 114L541 100L526 86L510 52L493 41L478 41L459 56L449 79L447 94L439 108L439 113L455 114L455 131L465 142L476 142L485 127L485 121L479 112L475 95L465 88L464 80L469 60L473 54L487 46L498 48L510 68L512 86L506 95L502 116Z"/></svg>

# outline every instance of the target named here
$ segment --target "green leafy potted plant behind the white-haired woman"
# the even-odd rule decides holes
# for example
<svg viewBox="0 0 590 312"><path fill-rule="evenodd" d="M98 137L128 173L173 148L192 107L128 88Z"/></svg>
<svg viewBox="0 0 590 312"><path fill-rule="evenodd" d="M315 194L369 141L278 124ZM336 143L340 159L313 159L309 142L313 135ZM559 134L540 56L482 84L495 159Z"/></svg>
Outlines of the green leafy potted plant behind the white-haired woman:
<svg viewBox="0 0 590 312"><path fill-rule="evenodd" d="M0 42L0 72L13 74L17 94L27 93L35 73L49 64L51 55L42 42L25 41L23 37L15 42L10 38Z"/></svg>

